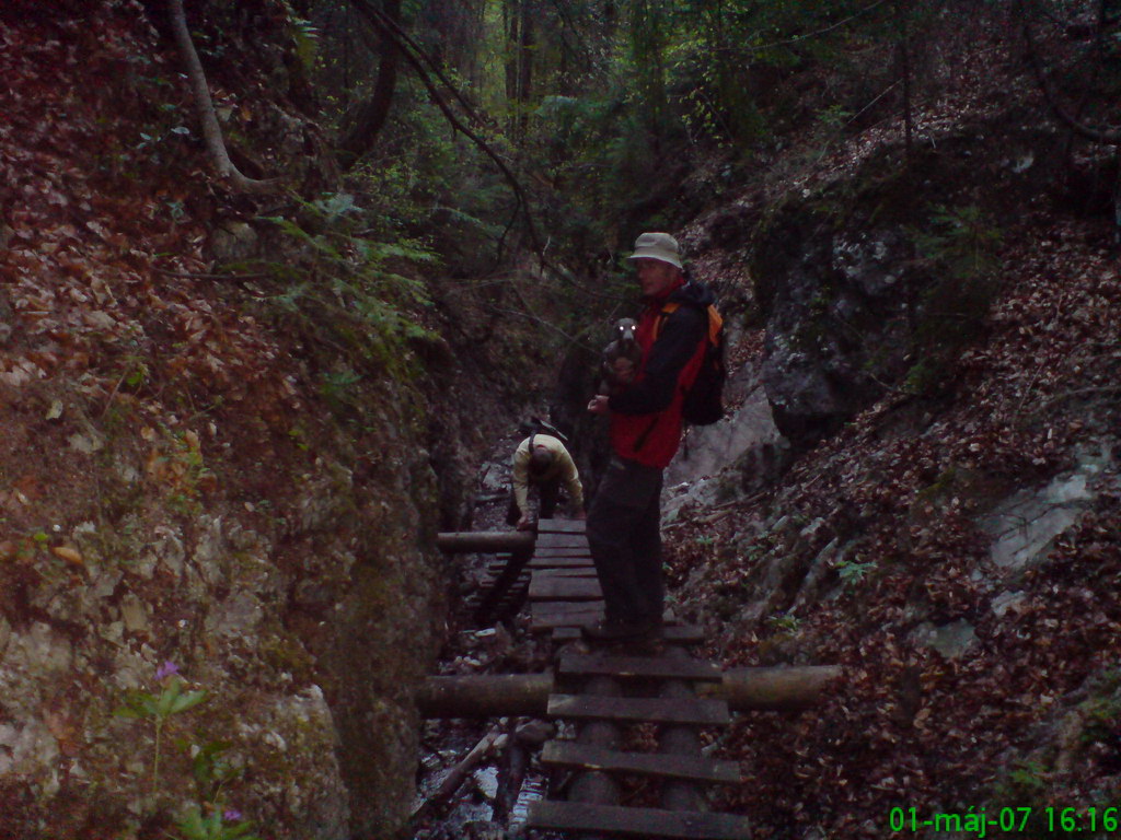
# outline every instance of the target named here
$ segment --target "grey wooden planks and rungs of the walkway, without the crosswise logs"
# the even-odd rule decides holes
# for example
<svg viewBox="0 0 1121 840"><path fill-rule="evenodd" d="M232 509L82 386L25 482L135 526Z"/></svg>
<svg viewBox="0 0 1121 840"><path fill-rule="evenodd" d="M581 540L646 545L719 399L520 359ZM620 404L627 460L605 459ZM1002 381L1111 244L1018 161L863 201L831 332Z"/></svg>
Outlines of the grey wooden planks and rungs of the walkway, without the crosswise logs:
<svg viewBox="0 0 1121 840"><path fill-rule="evenodd" d="M603 617L603 599L582 521L541 520L536 549L529 562L528 600L530 629L552 633L555 644L581 637L580 628ZM622 806L601 801L540 800L529 806L527 828L573 832L586 837L674 838L676 840L749 840L749 821L735 814L700 810L698 784L738 783L734 762L700 754L697 728L726 726L728 704L695 697L692 687L722 679L711 663L688 657L682 645L703 641L696 627L679 626L671 615L660 638L637 646L592 645L590 654L562 651L556 679L565 684L548 702L548 715L569 721L578 732L575 740L553 740L545 745L545 766L577 774L590 785L575 782L568 790L603 791L618 787L597 785L603 774L636 775L654 780L661 787L664 809ZM641 647L620 652L619 647ZM599 648L599 650L596 650ZM626 685L614 696L602 693L603 681ZM582 687L590 688L585 693ZM642 693L646 692L646 693ZM652 722L661 727L658 753L634 753L585 743L584 734L601 737L603 727ZM600 727L597 730L595 727ZM569 727L571 729L571 727ZM592 732L595 735L592 735ZM589 794L592 795L592 794ZM584 799L589 799L585 795ZM592 796L594 799L594 796Z"/></svg>

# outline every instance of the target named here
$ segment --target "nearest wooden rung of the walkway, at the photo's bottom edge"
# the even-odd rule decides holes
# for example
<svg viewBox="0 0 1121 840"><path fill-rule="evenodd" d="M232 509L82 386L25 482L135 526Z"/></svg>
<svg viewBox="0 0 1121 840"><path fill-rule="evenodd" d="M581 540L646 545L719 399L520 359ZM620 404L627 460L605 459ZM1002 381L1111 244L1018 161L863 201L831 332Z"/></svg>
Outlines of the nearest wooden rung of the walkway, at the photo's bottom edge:
<svg viewBox="0 0 1121 840"><path fill-rule="evenodd" d="M745 816L710 811L591 805L538 800L529 805L528 828L554 831L605 831L627 837L671 840L750 840Z"/></svg>

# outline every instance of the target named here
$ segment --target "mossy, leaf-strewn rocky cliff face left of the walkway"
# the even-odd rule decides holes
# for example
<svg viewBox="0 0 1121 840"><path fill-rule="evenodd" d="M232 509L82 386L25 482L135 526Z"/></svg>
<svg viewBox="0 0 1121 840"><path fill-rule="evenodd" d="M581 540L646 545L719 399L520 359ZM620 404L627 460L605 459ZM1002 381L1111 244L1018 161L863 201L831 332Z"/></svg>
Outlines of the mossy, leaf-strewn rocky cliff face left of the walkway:
<svg viewBox="0 0 1121 840"><path fill-rule="evenodd" d="M139 4L21 6L0 13L0 834L180 836L194 812L388 837L443 633L433 538L495 391L435 330L332 338L307 287L223 268L323 271L211 180ZM266 169L330 170L288 103L221 95L277 140Z"/></svg>

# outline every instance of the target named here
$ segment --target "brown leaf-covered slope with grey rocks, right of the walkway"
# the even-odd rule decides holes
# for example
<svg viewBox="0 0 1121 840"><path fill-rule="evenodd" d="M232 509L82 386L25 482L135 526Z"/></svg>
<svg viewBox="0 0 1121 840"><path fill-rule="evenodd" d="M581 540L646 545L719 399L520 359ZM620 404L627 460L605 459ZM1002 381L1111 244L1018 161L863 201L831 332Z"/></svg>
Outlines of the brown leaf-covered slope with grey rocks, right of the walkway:
<svg viewBox="0 0 1121 840"><path fill-rule="evenodd" d="M1093 147L1065 171L1039 153L1047 111L1001 56L974 56L985 73L923 114L928 168L907 181L919 206L1000 220L991 308L966 314L980 328L937 377L881 383L771 492L670 532L682 607L725 665L844 666L819 708L743 715L721 744L747 778L725 804L759 837L893 837L893 808L935 837L923 820L982 806L1030 808L1022 831L1060 836L1062 809L1100 816L1121 794L1121 270L1112 220L1072 186L1113 170ZM702 220L702 273L759 264L773 198L807 215L832 198L845 220L890 209L862 161L900 161L901 136L878 127L823 155L797 193L776 183ZM1022 193L1002 175L1017 161Z"/></svg>

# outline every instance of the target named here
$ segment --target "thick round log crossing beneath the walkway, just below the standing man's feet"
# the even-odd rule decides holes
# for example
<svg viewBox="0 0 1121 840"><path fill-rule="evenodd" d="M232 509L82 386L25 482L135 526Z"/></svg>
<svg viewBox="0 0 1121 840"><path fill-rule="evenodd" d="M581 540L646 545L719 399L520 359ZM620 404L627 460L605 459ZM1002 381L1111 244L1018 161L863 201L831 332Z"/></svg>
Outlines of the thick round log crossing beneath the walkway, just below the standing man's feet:
<svg viewBox="0 0 1121 840"><path fill-rule="evenodd" d="M836 665L739 668L721 682L697 687L701 697L724 700L732 711L791 711L821 700L825 687L841 675ZM429 676L417 692L426 718L544 718L553 693L553 674L481 674Z"/></svg>

